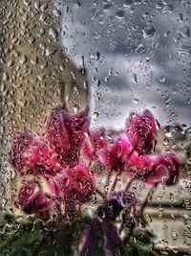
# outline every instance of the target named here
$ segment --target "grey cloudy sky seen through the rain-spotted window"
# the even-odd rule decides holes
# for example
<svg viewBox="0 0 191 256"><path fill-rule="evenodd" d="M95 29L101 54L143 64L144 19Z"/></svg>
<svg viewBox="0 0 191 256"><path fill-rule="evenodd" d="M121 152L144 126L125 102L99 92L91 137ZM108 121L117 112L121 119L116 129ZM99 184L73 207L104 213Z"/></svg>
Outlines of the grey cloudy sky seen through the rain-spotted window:
<svg viewBox="0 0 191 256"><path fill-rule="evenodd" d="M191 114L191 1L65 0L62 47L84 58L93 126L121 129L149 108L161 125Z"/></svg>

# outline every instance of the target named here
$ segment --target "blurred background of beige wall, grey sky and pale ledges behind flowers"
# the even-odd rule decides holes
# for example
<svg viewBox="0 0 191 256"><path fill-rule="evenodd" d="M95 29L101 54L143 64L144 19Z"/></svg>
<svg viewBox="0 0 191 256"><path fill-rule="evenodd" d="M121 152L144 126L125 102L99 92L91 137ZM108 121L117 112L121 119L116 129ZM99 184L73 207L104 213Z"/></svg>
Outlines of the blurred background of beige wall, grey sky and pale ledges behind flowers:
<svg viewBox="0 0 191 256"><path fill-rule="evenodd" d="M157 151L177 151L182 174L159 187L145 215L160 255L190 255L191 1L2 0L0 13L1 213L14 192L11 138L40 132L53 106L89 105L92 128L114 133L148 108L161 125Z"/></svg>

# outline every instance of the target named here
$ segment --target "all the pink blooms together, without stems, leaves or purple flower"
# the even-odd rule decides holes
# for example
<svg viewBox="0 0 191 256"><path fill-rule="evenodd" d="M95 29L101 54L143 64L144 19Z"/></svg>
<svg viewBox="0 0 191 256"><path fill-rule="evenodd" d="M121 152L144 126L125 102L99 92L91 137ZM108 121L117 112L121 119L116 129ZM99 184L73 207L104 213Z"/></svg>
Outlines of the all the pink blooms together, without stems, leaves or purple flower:
<svg viewBox="0 0 191 256"><path fill-rule="evenodd" d="M34 175L22 184L18 205L27 214L38 214L56 207L58 201L83 203L96 190L92 162L120 174L125 171L133 180L157 185L176 184L180 160L170 151L151 157L157 124L148 111L131 114L126 134L108 143L103 128L89 129L88 110L71 116L66 108L56 107L48 118L46 140L24 132L12 141L10 162L18 174ZM89 160L86 166L81 156ZM47 180L45 193L39 180ZM55 203L56 201L56 203Z"/></svg>

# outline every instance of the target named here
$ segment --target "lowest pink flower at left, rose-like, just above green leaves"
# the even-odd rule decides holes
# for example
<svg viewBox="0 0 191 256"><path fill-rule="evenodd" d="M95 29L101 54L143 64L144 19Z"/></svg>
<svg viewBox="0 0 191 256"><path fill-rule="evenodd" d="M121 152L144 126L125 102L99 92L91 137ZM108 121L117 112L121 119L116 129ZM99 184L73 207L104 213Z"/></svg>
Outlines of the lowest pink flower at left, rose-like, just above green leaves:
<svg viewBox="0 0 191 256"><path fill-rule="evenodd" d="M18 204L27 214L39 214L52 209L53 201L36 181L25 182L18 193Z"/></svg>

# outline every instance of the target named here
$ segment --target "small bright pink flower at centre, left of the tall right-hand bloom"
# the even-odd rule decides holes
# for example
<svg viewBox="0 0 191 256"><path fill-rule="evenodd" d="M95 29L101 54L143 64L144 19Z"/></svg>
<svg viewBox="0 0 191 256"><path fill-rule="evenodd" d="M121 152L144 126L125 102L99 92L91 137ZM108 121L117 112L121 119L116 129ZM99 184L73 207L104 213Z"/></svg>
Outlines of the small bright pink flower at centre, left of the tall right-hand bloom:
<svg viewBox="0 0 191 256"><path fill-rule="evenodd" d="M100 151L98 156L104 166L116 171L122 171L130 152L128 140L120 136L112 144L110 149Z"/></svg>

